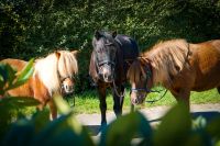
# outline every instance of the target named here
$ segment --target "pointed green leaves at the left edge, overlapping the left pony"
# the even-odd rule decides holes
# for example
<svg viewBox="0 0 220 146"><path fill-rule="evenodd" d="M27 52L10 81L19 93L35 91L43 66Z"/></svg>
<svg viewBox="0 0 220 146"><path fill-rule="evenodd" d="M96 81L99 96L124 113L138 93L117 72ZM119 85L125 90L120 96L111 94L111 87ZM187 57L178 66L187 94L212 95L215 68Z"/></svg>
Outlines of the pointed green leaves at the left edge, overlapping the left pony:
<svg viewBox="0 0 220 146"><path fill-rule="evenodd" d="M20 71L16 72L8 64L0 64L0 139L8 131L12 121L22 115L25 106L35 106L36 100L30 97L9 97L7 91L18 88L29 80L33 74L33 59Z"/></svg>

